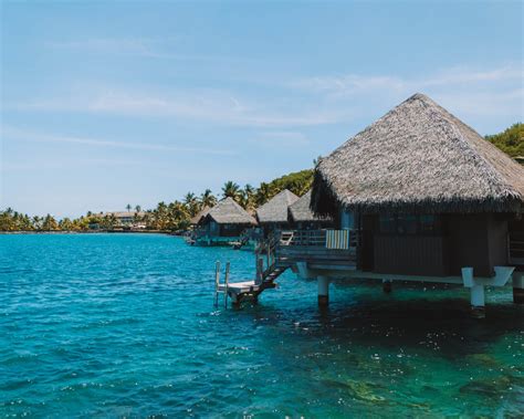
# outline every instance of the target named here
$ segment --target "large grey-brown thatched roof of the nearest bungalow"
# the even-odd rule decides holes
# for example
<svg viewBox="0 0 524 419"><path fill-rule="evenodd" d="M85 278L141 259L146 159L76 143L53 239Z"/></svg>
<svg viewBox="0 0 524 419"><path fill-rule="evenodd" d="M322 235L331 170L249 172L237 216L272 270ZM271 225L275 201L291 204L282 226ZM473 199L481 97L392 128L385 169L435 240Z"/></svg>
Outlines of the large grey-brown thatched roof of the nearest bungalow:
<svg viewBox="0 0 524 419"><path fill-rule="evenodd" d="M312 209L360 212L513 212L524 168L416 94L315 168Z"/></svg>

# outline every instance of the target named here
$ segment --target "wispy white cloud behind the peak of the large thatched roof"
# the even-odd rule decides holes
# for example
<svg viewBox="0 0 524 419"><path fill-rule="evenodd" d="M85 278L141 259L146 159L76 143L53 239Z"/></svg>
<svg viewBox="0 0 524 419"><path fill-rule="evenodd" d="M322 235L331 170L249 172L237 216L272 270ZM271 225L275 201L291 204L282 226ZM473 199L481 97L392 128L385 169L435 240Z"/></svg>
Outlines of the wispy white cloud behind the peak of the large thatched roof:
<svg viewBox="0 0 524 419"><path fill-rule="evenodd" d="M523 67L506 64L494 69L454 66L417 77L396 75L314 76L287 85L304 94L319 96L335 107L387 111L412 94L426 93L442 106L467 117L483 129L488 121L515 121L524 116Z"/></svg>

